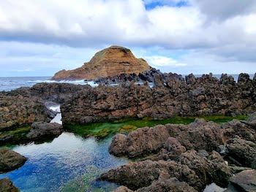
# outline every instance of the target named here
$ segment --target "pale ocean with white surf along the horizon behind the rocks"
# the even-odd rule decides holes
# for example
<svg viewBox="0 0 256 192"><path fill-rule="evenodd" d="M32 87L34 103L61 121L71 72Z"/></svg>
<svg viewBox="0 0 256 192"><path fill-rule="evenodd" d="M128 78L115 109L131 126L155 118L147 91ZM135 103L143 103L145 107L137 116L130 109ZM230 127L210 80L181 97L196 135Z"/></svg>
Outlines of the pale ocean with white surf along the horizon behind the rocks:
<svg viewBox="0 0 256 192"><path fill-rule="evenodd" d="M237 81L239 74L230 74L234 77L234 79ZM185 77L185 75L183 75ZM195 74L195 77L201 77L202 74ZM254 77L254 74L249 74L250 78L252 79ZM214 74L214 77L220 78L221 74ZM16 88L20 87L31 87L39 82L61 82L61 83L72 83L76 85L91 85L91 86L97 86L94 82L85 82L84 80L74 80L74 81L68 81L68 80L62 80L62 81L55 81L50 80L50 77L0 77L0 91L12 91Z"/></svg>

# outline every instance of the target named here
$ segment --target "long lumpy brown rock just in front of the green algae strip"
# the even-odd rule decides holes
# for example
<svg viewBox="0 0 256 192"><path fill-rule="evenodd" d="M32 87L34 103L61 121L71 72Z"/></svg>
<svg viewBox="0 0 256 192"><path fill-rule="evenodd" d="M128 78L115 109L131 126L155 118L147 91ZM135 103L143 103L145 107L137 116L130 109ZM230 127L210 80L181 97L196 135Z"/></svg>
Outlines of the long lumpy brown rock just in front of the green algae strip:
<svg viewBox="0 0 256 192"><path fill-rule="evenodd" d="M176 141L173 138L172 142L176 142L176 144L173 143L173 146L171 146L168 137L175 137ZM197 119L189 125L167 124L154 128L139 128L127 136L117 134L113 137L110 145L110 153L134 158L156 153L164 148L157 156L161 158L165 155L166 158L171 155L175 157L186 149L211 152L217 150L218 146L223 144L222 137L222 128L217 123ZM177 150L180 150L180 152ZM171 153L168 153L168 151Z"/></svg>

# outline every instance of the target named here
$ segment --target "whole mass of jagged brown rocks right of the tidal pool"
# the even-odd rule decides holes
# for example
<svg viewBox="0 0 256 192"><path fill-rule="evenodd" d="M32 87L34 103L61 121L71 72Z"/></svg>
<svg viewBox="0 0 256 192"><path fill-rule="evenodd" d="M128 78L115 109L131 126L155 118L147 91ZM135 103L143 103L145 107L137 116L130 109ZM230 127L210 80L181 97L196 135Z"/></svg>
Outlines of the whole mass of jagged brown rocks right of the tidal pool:
<svg viewBox="0 0 256 192"><path fill-rule="evenodd" d="M100 179L125 186L116 191L203 191L211 183L227 191L255 191L255 116L222 125L197 119L187 126L167 124L117 134L110 153L143 158Z"/></svg>

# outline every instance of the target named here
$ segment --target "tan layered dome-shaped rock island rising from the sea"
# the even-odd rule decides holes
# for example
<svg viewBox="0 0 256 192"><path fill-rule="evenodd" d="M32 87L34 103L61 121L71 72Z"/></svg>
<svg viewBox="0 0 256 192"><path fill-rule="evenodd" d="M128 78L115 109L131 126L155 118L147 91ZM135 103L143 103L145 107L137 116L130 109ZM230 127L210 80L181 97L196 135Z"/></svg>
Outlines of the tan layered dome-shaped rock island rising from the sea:
<svg viewBox="0 0 256 192"><path fill-rule="evenodd" d="M135 58L131 50L111 46L96 53L91 61L78 69L57 72L52 80L96 80L118 74L139 74L148 69L147 62L143 58Z"/></svg>

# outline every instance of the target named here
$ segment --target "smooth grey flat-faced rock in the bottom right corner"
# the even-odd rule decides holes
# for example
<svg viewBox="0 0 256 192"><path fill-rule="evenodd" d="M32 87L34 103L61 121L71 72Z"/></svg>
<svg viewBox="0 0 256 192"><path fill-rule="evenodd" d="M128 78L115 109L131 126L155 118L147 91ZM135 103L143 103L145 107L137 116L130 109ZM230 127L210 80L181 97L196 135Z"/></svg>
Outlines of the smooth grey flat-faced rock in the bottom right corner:
<svg viewBox="0 0 256 192"><path fill-rule="evenodd" d="M231 186L227 188L227 191L231 191L230 188L234 188L237 191L256 191L256 170L245 170L239 172L230 179Z"/></svg>

